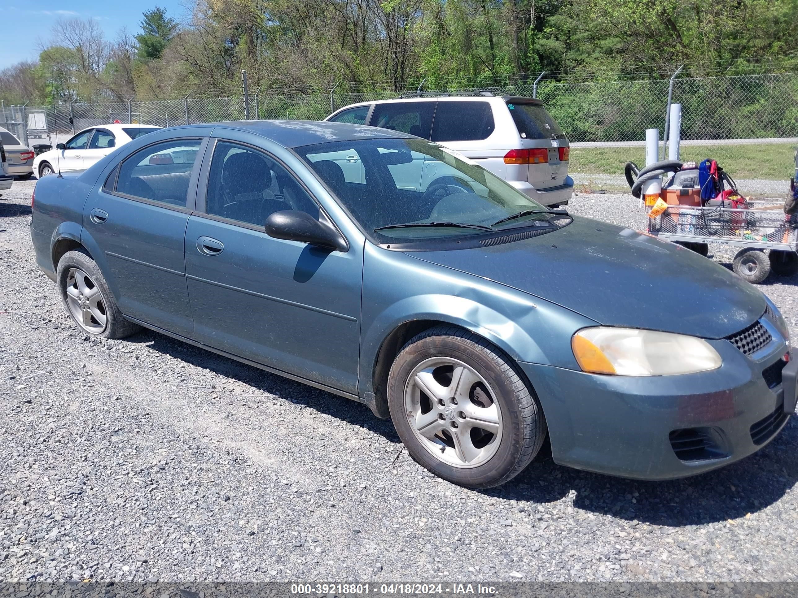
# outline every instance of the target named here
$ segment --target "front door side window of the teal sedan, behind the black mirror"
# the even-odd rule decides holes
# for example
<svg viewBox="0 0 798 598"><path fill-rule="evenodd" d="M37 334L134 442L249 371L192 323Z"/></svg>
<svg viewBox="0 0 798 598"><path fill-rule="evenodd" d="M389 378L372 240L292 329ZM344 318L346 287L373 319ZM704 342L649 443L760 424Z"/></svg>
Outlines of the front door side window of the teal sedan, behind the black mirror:
<svg viewBox="0 0 798 598"><path fill-rule="evenodd" d="M244 146L219 141L207 186L207 214L263 226L281 210L318 218L318 206L275 159Z"/></svg>

